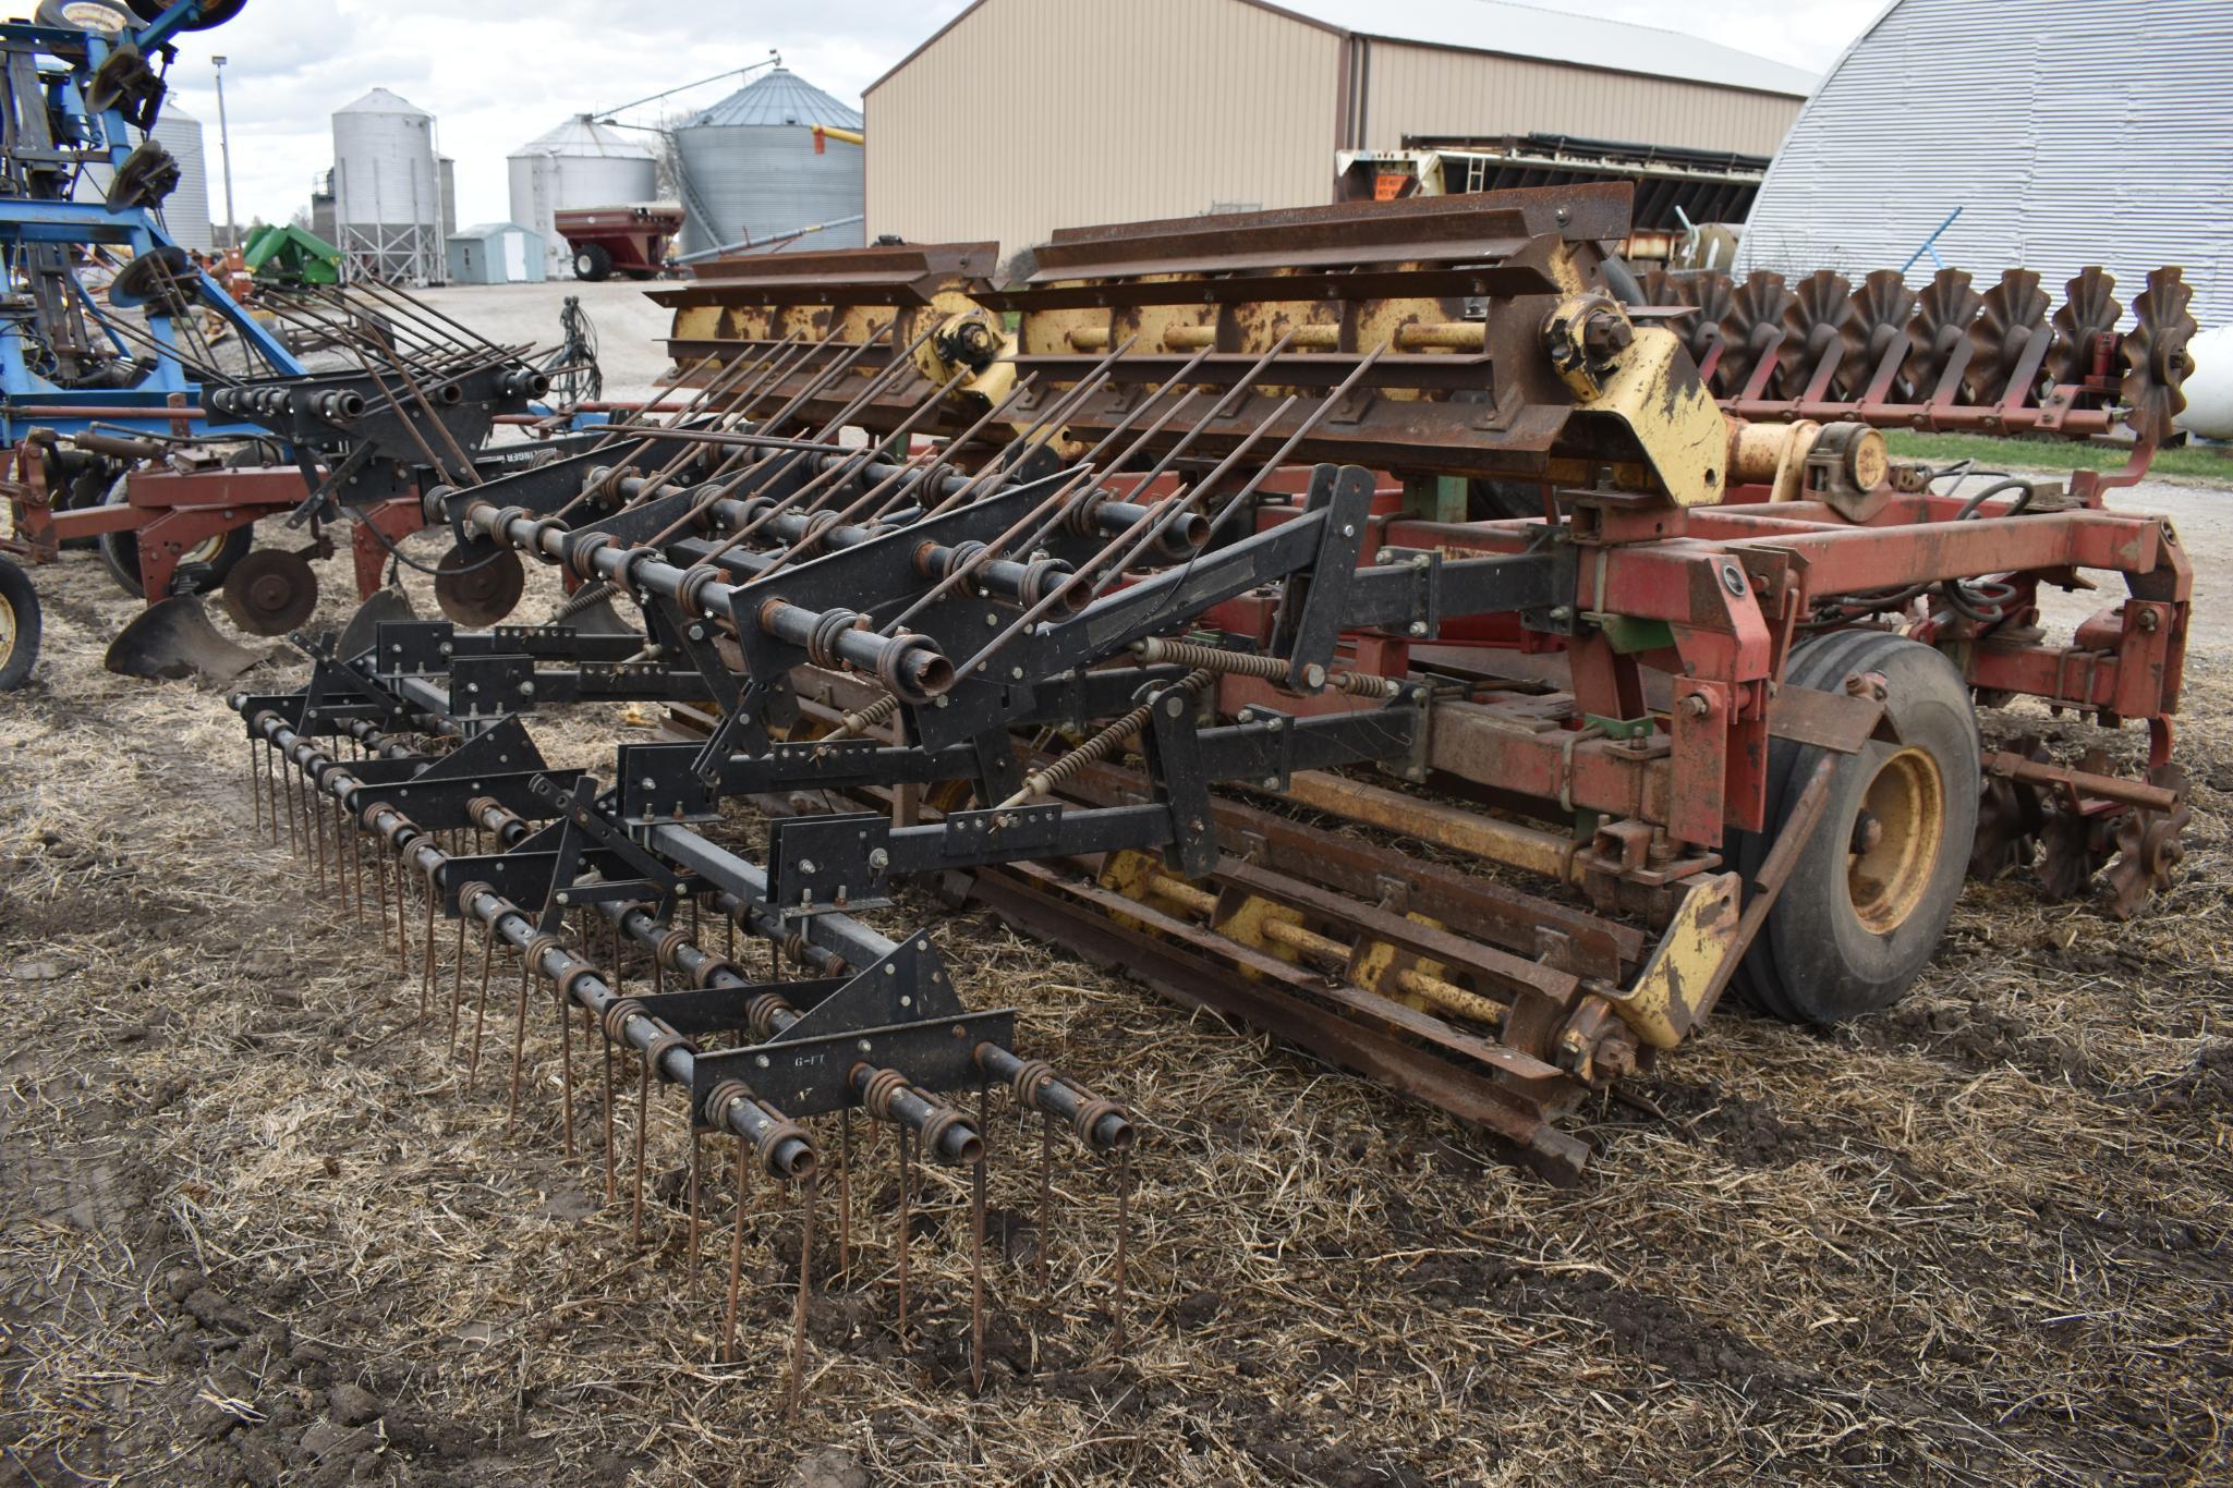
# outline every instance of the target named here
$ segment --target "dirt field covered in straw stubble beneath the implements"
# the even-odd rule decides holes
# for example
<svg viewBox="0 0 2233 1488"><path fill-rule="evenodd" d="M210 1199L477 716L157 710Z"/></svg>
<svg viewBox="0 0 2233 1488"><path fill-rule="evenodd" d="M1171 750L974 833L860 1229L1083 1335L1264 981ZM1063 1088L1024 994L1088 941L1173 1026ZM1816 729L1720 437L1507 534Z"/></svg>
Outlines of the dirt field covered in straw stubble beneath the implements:
<svg viewBox="0 0 2233 1488"><path fill-rule="evenodd" d="M1130 1341L1110 1173L1065 1149L1038 1234L1036 1127L996 1102L987 1394L965 1189L929 1180L902 1339L880 1151L795 1426L795 1205L753 1196L744 1363L712 1363L730 1231L692 1296L677 1109L639 1256L625 1187L601 1202L558 1147L540 999L507 1133L516 964L473 1080L377 933L259 837L221 698L100 671L130 611L71 555L38 573L38 683L0 700L0 1481L2229 1481L2233 493L2166 500L2213 596L2182 886L2124 926L1972 886L1894 1013L1818 1035L1728 1008L1588 1111L1576 1191L911 904L971 999L1023 1008L1027 1053L1143 1122ZM614 727L540 732L601 765Z"/></svg>

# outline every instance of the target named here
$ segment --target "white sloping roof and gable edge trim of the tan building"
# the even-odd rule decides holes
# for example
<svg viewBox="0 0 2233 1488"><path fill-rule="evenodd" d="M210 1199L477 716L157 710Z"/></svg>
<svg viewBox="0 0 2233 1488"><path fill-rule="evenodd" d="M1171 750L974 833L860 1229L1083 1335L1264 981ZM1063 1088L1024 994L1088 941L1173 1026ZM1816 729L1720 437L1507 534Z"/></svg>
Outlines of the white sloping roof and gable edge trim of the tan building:
<svg viewBox="0 0 2233 1488"><path fill-rule="evenodd" d="M1681 31L1639 27L1626 20L1570 16L1539 4L1507 0L1233 0L1264 11L1293 16L1306 25L1420 47L1451 47L1521 56L1570 67L1603 67L1655 78L1686 78L1717 87L1742 87L1760 94L1804 98L1818 83L1804 67L1786 67L1751 51L1708 42ZM985 0L974 0L960 16L942 25L891 71L871 83L875 91L895 71L922 56L940 36L967 20Z"/></svg>

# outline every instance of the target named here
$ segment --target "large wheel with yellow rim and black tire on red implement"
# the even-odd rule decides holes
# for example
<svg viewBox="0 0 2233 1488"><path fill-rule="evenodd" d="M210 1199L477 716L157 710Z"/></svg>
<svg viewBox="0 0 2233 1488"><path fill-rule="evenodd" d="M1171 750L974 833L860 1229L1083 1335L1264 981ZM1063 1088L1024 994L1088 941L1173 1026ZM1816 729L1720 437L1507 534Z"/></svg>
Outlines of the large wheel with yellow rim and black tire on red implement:
<svg viewBox="0 0 2233 1488"><path fill-rule="evenodd" d="M1869 741L1840 756L1822 821L1735 982L1746 1002L1786 1022L1838 1024L1898 1002L1938 950L1976 839L1981 750L1961 671L1916 640L1840 631L1802 647L1784 687L1831 692L1856 671L1882 674L1900 743ZM1789 741L1771 747L1771 830L1733 843L1746 881L1824 754Z"/></svg>

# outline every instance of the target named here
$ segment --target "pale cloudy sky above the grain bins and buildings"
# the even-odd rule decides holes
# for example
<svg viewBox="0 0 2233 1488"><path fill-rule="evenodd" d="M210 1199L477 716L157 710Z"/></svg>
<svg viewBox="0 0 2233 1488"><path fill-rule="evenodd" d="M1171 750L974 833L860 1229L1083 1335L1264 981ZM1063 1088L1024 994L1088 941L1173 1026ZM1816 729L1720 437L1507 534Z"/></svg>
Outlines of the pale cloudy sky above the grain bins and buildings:
<svg viewBox="0 0 2233 1488"><path fill-rule="evenodd" d="M181 38L172 89L203 120L210 210L219 219L226 205L212 56L228 58L226 112L239 145L232 185L241 221L284 221L308 205L310 178L333 163L328 114L371 87L386 87L438 116L442 152L458 161L458 216L476 223L509 214L505 156L569 114L744 67L770 47L793 71L857 105L860 89L965 2L250 0L239 20ZM1684 29L1813 71L1829 67L1882 9L1882 0L1545 4ZM703 107L732 87L715 83L670 107Z"/></svg>

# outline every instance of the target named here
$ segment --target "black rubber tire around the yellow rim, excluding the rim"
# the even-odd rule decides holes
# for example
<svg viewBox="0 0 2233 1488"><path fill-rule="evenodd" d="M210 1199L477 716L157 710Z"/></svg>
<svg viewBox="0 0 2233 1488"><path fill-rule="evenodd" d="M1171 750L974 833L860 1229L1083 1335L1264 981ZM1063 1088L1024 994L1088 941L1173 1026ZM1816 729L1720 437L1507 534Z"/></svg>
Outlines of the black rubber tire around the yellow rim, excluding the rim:
<svg viewBox="0 0 2233 1488"><path fill-rule="evenodd" d="M1938 950L1961 899L1976 839L1981 747L1976 709L1961 671L1927 645L1885 631L1838 631L1802 647L1784 687L1833 692L1853 671L1878 671L1903 747L1936 767L1940 837L1914 910L1889 930L1862 924L1849 888L1849 848L1871 781L1900 747L1871 741L1842 756L1829 805L1800 852L1784 892L1737 968L1737 993L1762 1013L1795 1024L1840 1024L1898 1002ZM1769 752L1769 830L1735 834L1731 857L1744 881L1760 872L1777 828L1798 808L1827 752L1775 741Z"/></svg>

